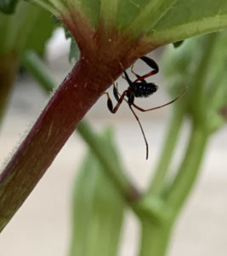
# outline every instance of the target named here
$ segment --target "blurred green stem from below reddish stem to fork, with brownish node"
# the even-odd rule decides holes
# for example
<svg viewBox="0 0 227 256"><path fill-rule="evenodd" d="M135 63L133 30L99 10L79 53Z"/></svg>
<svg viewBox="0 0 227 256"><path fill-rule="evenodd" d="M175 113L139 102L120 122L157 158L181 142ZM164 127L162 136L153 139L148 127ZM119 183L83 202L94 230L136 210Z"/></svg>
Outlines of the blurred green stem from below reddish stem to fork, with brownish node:
<svg viewBox="0 0 227 256"><path fill-rule="evenodd" d="M138 216L149 216L154 223L159 223L160 219L165 218L162 216L162 201L153 197L148 199L144 196L141 197L133 183L129 182L128 177L119 165L119 161L114 162L112 160L111 154L113 152L111 148L94 133L87 122L82 120L77 126L77 131L99 159L104 167L105 174L110 177L111 182L114 183L123 200L128 203Z"/></svg>

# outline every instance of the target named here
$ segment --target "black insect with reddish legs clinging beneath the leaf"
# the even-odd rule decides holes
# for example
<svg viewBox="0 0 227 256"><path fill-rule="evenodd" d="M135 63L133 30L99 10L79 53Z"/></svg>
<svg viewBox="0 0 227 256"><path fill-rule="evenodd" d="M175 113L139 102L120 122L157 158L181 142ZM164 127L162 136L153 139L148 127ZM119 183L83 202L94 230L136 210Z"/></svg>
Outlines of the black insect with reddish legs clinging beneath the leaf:
<svg viewBox="0 0 227 256"><path fill-rule="evenodd" d="M137 108L139 111L142 112L146 112L146 111L151 111L151 110L155 110L157 108L163 108L173 102L175 102L177 99L179 99L179 97L181 97L184 94L184 91L181 92L181 94L179 96L177 96L176 98L174 98L171 102L167 102L161 106L155 107L155 108L149 108L149 109L144 109L144 108L140 108L139 106L137 106L134 103L134 98L135 97L148 97L150 95L152 95L153 93L156 92L156 90L158 89L158 86L154 83L148 83L145 81L146 78L152 76L153 74L158 73L159 68L156 64L155 61L151 60L149 57L146 56L142 56L140 57L140 59L142 61L145 61L145 63L151 67L153 70L149 73L146 73L143 76L139 76L139 74L135 73L133 71L133 66L131 67L131 72L136 76L137 79L135 79L134 81L131 81L131 79L129 79L128 77L128 73L126 71L124 71L124 75L125 77L123 77L124 79L127 80L128 82L128 89L124 90L122 95L120 95L120 93L117 90L116 84L114 84L113 86L113 94L116 98L116 106L113 107L113 103L111 101L111 97L109 96L108 92L105 92L106 96L107 96L107 107L109 108L109 110L111 111L111 113L116 113L117 109L120 107L120 105L122 104L122 101L125 100L126 102L128 102L128 107L131 109L131 111L133 112L133 115L135 117L135 119L137 119L140 129L142 131L143 137L145 139L145 145L146 145L146 160L148 159L148 154L149 154L149 149L148 149L148 143L145 137L145 132L143 130L143 127L139 121L138 116L136 115L136 113L134 112L132 106L134 108ZM126 97L126 98L125 98Z"/></svg>

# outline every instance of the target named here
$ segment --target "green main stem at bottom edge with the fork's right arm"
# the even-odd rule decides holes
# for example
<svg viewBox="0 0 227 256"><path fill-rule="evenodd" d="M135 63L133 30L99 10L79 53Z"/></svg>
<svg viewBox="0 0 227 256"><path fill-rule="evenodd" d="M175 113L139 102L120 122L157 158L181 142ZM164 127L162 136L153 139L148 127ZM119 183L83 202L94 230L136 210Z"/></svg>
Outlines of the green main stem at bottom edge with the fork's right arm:
<svg viewBox="0 0 227 256"><path fill-rule="evenodd" d="M150 218L141 218L142 238L139 256L164 256L166 254L174 219L196 181L207 137L208 135L201 127L196 125L193 127L178 176L167 191L166 204L163 207L163 211L167 212L167 218L159 224L155 224Z"/></svg>

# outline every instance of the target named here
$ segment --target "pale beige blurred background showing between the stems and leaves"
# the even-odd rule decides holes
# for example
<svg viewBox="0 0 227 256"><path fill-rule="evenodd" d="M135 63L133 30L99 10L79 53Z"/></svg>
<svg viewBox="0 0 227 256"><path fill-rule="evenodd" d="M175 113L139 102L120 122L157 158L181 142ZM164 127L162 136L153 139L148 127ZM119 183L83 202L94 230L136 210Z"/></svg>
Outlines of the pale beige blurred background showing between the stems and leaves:
<svg viewBox="0 0 227 256"><path fill-rule="evenodd" d="M47 50L48 68L57 84L60 84L71 70L68 49L69 42L65 41L63 30L58 29L49 41ZM162 49L156 50L152 55L157 63L161 56ZM135 65L138 73L145 73L145 68L147 67L139 61ZM160 74L150 78L150 81L158 84L159 90L154 96L137 101L138 105L144 108L156 107L169 101L164 90L167 84L162 81L162 67ZM22 72L14 85L10 108L0 133L3 165L48 102L45 92L35 83ZM120 91L127 88L123 79L119 79L117 83ZM112 92L110 93L112 96ZM112 114L106 106L106 97L102 96L86 116L97 131L101 131L106 125L114 127L124 166L139 189L145 189L149 183L150 168L155 166L160 153L170 108L171 106L168 106L149 113L138 113L150 147L149 160L145 160L145 142L139 125L126 103L122 103L118 112ZM182 153L186 134L187 125L179 140L179 149L173 165ZM211 138L201 175L173 230L169 256L227 255L226 135L225 126ZM0 237L1 256L68 255L71 236L71 192L85 152L85 143L77 134L73 134L26 203L3 231ZM137 219L132 212L128 212L124 219L120 256L135 255L138 232Z"/></svg>

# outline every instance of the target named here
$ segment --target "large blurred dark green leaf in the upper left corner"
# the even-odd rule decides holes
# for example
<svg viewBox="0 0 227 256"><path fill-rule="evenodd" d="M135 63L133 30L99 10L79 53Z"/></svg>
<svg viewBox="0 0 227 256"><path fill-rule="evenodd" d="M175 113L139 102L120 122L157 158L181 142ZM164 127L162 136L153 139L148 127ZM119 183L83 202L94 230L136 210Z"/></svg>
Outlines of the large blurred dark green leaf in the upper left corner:
<svg viewBox="0 0 227 256"><path fill-rule="evenodd" d="M54 24L44 9L29 3L19 3L14 15L0 14L0 55L35 49L43 54L52 35Z"/></svg>

